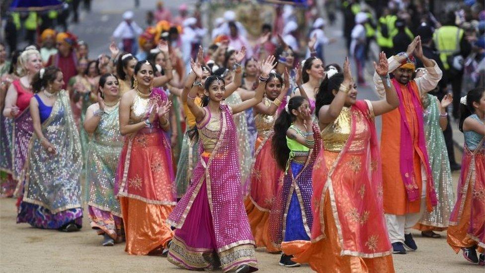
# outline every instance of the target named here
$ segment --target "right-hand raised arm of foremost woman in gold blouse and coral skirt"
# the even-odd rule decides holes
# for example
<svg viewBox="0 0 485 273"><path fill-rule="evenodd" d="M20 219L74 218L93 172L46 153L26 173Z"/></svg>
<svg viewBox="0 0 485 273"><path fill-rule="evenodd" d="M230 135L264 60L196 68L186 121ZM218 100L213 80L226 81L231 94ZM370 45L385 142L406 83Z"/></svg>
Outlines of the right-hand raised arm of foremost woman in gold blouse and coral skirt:
<svg viewBox="0 0 485 273"><path fill-rule="evenodd" d="M376 73L381 77L381 82L386 91L386 98L371 101L372 109L369 109L371 111L370 114L371 116L378 116L396 109L399 106L399 97L396 89L391 84L388 73L389 64L384 52L379 53L379 65L374 62L374 68L376 69Z"/></svg>

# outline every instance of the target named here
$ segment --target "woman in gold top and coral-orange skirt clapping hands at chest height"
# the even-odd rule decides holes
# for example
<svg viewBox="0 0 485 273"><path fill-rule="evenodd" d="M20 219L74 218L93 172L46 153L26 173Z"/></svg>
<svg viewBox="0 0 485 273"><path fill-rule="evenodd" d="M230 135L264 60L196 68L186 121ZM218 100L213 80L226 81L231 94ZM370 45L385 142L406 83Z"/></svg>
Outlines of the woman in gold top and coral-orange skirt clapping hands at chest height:
<svg viewBox="0 0 485 273"><path fill-rule="evenodd" d="M134 69L133 89L120 101L120 132L125 137L116 174L117 194L126 236L125 251L132 255L160 255L172 238L165 223L176 204L170 144L170 102L165 92L152 88L156 68L140 61Z"/></svg>

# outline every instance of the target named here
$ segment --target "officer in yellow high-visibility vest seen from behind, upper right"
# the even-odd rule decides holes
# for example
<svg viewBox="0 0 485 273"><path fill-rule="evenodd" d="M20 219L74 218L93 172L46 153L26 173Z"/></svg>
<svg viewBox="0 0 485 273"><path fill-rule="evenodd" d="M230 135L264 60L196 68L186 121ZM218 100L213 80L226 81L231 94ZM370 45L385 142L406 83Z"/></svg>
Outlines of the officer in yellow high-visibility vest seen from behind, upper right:
<svg viewBox="0 0 485 273"><path fill-rule="evenodd" d="M433 41L453 89L453 117L460 117L460 98L463 80L463 60L472 50L464 30L455 25L455 12L450 11L443 26L436 29Z"/></svg>

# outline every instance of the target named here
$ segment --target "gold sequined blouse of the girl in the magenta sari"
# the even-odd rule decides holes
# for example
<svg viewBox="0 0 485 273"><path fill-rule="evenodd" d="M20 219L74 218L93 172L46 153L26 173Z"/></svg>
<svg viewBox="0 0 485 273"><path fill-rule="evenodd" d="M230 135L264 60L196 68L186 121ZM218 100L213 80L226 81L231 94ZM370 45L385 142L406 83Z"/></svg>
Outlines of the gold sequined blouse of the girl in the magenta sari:
<svg viewBox="0 0 485 273"><path fill-rule="evenodd" d="M202 141L204 150L212 151L216 147L219 134L221 133L221 117L212 116L209 109L205 111L206 115L204 119L200 123L197 123L197 130L199 131L199 138Z"/></svg>

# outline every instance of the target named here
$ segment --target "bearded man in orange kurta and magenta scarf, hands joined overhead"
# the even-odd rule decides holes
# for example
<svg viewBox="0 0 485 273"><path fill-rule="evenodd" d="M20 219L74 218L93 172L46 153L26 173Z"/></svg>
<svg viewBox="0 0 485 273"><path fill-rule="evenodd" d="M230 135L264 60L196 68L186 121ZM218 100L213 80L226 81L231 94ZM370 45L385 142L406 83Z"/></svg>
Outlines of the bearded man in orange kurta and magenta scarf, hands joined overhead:
<svg viewBox="0 0 485 273"><path fill-rule="evenodd" d="M414 58L424 64L427 74L424 77L412 80L415 69ZM382 115L381 156L384 193L384 212L389 230L389 239L393 245L393 252L405 254L407 250L416 250L417 246L410 234L410 228L421 218L427 208L432 209L434 189L432 177L429 172L426 147L420 145L419 138L424 135L422 126L419 126L418 113L422 113L420 98L424 92L435 89L441 80L442 72L435 61L423 56L420 37L417 36L407 51L388 59L389 73L394 76L393 84L401 92L400 107ZM381 96L385 95L381 77L374 74L374 84ZM399 88L399 90L398 90ZM405 118L405 120L404 120ZM406 123L404 128L403 124ZM421 119L422 123L422 119ZM402 130L407 130L403 133ZM406 132L407 132L406 131ZM407 166L404 170L402 162L403 135L409 154ZM407 149L406 149L407 150ZM406 184L404 180L408 181ZM407 187L407 188L406 188ZM409 187L414 190L415 196L409 196ZM419 195L418 195L419 194Z"/></svg>

